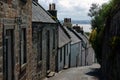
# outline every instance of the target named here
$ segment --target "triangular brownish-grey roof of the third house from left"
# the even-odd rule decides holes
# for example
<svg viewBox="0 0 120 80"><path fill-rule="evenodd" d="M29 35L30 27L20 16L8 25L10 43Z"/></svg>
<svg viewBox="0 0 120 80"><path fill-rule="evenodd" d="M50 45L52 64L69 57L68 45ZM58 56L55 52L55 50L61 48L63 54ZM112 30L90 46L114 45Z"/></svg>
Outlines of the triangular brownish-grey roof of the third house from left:
<svg viewBox="0 0 120 80"><path fill-rule="evenodd" d="M71 40L69 38L69 36L64 32L63 26L59 26L58 29L59 29L59 44L58 44L58 47L62 47L64 46L65 44L69 43Z"/></svg>

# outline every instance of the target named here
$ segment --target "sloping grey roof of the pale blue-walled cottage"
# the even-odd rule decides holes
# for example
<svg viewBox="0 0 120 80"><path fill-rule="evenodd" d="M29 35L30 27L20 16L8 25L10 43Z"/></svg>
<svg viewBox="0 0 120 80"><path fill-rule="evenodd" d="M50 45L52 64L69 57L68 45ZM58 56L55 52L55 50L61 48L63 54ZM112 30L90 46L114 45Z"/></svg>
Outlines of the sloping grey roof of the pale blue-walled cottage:
<svg viewBox="0 0 120 80"><path fill-rule="evenodd" d="M71 37L71 44L75 44L75 43L81 42L81 40L72 31L70 31L66 27L64 27L64 28L65 28L65 30L68 32L68 34Z"/></svg>

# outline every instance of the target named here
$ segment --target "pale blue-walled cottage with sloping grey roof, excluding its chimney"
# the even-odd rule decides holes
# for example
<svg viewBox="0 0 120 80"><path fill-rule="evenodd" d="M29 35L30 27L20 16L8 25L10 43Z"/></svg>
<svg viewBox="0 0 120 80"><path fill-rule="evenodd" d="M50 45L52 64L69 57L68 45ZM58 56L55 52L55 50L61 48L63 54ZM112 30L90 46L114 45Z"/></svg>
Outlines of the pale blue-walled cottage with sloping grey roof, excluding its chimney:
<svg viewBox="0 0 120 80"><path fill-rule="evenodd" d="M65 29L71 37L70 67L80 66L81 40L73 33L71 28L65 27Z"/></svg>

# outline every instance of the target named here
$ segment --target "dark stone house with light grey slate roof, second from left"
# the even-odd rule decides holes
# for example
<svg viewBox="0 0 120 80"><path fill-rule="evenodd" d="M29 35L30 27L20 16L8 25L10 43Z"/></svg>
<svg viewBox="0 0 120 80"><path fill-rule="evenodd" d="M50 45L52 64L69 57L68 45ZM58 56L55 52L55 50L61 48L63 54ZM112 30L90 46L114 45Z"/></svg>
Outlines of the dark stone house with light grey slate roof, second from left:
<svg viewBox="0 0 120 80"><path fill-rule="evenodd" d="M53 5L50 7L52 7L50 10L54 12ZM34 80L39 80L53 75L56 69L58 28L52 15L36 0L32 2L32 31L36 64Z"/></svg>

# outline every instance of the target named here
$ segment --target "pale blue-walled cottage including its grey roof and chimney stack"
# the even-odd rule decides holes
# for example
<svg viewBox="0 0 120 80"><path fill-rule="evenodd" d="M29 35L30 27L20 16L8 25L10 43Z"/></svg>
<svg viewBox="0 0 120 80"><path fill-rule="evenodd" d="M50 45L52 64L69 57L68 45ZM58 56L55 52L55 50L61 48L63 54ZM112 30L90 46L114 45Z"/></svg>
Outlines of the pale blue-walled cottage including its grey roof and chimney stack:
<svg viewBox="0 0 120 80"><path fill-rule="evenodd" d="M70 67L80 66L81 40L73 32L71 18L65 18L63 25L71 38Z"/></svg>

